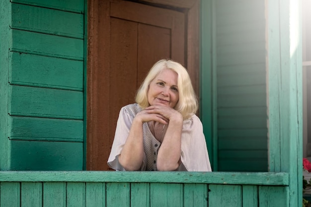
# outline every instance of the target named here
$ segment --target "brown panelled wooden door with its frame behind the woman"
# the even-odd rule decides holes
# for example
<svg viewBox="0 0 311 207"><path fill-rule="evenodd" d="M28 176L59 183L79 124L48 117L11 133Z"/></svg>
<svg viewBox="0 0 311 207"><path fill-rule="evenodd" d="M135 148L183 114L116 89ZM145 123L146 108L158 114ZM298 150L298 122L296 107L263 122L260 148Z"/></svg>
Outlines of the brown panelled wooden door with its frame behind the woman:
<svg viewBox="0 0 311 207"><path fill-rule="evenodd" d="M106 162L120 108L135 102L158 59L187 62L186 14L132 1L93 3L98 10L89 15L98 15L98 22L88 38L86 163L88 170L110 170Z"/></svg>

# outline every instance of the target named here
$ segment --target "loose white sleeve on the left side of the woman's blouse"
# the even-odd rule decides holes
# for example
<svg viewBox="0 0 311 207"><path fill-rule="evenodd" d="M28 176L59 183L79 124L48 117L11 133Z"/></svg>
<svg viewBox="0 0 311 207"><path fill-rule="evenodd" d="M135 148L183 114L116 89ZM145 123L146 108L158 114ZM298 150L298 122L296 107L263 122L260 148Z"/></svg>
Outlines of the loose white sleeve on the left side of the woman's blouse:
<svg viewBox="0 0 311 207"><path fill-rule="evenodd" d="M118 156L121 154L123 146L126 142L126 139L130 133L131 125L133 122L134 116L130 114L125 107L122 107L119 113L117 127L114 135L113 144L111 147L111 152L108 158L108 165L117 171L125 171L123 166L119 163ZM146 155L144 155L143 165L141 170L146 168Z"/></svg>

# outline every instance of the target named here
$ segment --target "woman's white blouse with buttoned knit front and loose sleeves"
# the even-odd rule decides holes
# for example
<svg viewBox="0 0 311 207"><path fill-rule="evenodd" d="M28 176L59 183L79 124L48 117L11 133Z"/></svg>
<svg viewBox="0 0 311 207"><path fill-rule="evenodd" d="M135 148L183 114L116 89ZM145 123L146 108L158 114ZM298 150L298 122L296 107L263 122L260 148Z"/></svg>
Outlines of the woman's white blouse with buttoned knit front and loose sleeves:
<svg viewBox="0 0 311 207"><path fill-rule="evenodd" d="M108 165L118 171L125 169L119 163L118 155L129 135L131 125L137 113L142 111L138 104L129 104L121 108L117 128L108 158ZM150 131L148 123L143 124L144 159L140 170L156 170L156 157L161 143ZM196 115L183 121L181 133L181 164L176 171L212 171L207 152L202 123Z"/></svg>

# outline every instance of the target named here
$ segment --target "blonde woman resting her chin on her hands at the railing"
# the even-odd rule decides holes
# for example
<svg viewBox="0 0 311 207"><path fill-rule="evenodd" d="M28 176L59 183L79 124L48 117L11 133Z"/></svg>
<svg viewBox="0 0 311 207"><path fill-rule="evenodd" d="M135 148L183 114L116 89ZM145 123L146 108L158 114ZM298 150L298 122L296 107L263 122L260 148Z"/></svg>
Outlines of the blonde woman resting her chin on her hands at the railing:
<svg viewBox="0 0 311 207"><path fill-rule="evenodd" d="M187 70L159 60L121 108L108 165L115 170L212 171Z"/></svg>

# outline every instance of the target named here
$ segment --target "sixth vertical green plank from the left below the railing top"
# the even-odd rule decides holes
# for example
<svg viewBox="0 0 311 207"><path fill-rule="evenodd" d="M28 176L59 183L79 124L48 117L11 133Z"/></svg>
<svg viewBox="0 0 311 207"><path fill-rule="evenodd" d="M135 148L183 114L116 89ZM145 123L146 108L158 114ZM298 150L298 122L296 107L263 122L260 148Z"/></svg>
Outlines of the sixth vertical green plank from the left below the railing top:
<svg viewBox="0 0 311 207"><path fill-rule="evenodd" d="M130 183L106 183L107 207L130 207Z"/></svg>

